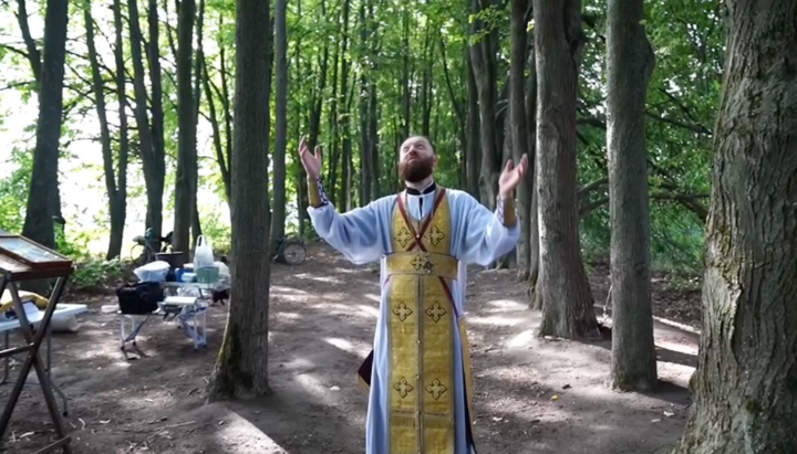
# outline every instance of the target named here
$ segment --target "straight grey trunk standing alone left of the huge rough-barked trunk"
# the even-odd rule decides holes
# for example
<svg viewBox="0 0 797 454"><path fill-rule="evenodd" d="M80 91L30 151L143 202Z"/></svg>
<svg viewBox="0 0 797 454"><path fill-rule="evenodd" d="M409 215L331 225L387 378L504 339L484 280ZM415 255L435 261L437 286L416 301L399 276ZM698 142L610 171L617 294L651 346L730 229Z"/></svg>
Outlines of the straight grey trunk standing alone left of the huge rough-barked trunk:
<svg viewBox="0 0 797 454"><path fill-rule="evenodd" d="M654 55L644 0L609 0L607 18L611 378L615 389L648 391L656 384L644 122Z"/></svg>

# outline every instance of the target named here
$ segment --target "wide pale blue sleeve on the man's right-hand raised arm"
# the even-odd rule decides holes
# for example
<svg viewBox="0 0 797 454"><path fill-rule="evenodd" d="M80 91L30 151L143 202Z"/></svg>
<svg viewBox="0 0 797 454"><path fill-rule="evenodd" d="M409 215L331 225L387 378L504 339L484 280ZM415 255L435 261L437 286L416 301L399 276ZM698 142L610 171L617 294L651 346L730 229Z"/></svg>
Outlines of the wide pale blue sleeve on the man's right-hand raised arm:
<svg viewBox="0 0 797 454"><path fill-rule="evenodd" d="M498 199L496 211L489 211L470 194L459 198L464 222L459 235L458 257L465 263L488 266L509 253L517 244L520 228L511 200Z"/></svg>

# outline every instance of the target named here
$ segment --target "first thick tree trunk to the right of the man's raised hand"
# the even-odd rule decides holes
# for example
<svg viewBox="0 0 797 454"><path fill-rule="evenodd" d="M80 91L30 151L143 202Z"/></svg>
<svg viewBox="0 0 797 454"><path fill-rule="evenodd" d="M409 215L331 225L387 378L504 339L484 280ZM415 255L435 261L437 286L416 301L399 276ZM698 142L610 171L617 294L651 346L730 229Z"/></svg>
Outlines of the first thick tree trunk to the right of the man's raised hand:
<svg viewBox="0 0 797 454"><path fill-rule="evenodd" d="M597 334L581 260L576 162L576 101L583 47L581 0L534 0L537 53L537 194L540 336Z"/></svg>

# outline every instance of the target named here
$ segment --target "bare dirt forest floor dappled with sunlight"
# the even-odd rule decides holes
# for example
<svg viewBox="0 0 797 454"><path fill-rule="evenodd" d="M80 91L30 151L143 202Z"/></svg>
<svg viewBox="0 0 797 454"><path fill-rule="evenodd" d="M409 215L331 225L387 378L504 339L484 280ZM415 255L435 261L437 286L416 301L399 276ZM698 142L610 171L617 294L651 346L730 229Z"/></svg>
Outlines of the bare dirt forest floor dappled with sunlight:
<svg viewBox="0 0 797 454"><path fill-rule="evenodd" d="M75 454L356 454L364 452L366 395L355 371L371 348L377 274L321 244L299 267L275 265L269 351L273 395L205 404L205 388L227 308L209 309L209 345L194 351L182 329L151 319L138 337L145 355L125 359L118 324L93 296L80 331L53 335L53 374L70 399L64 419ZM597 306L605 265L590 266ZM650 394L607 386L610 341L540 339L539 314L511 271L469 275L468 330L480 454L659 454L681 434L687 382L696 365L700 294L654 277L661 387ZM600 308L597 309L599 316ZM4 405L11 387L0 388ZM59 400L60 404L60 400ZM32 453L52 424L41 391L27 388L0 452ZM4 450L4 451L3 451Z"/></svg>

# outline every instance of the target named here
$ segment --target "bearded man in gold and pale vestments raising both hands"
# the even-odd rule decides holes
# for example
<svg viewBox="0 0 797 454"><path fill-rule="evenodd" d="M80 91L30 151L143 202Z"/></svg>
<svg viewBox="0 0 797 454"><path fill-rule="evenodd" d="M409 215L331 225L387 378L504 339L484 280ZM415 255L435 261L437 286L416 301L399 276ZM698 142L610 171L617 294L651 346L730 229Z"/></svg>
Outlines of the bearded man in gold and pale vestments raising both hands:
<svg viewBox="0 0 797 454"><path fill-rule="evenodd" d="M299 155L318 234L355 264L381 262L374 348L359 371L370 388L365 454L475 453L466 266L487 266L517 243L513 193L528 159L507 162L490 212L436 184L432 144L410 137L398 156L405 189L339 214L321 183L321 148L311 154L302 138Z"/></svg>

